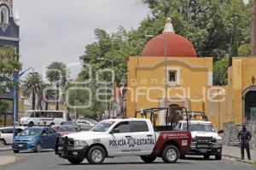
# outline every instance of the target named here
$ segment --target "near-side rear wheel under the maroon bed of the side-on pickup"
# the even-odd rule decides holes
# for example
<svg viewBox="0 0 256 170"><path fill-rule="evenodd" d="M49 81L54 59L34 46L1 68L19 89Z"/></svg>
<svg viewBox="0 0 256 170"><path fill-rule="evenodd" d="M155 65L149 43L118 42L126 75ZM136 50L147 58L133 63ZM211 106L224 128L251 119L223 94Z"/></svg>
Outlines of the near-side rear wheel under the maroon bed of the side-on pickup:
<svg viewBox="0 0 256 170"><path fill-rule="evenodd" d="M174 145L167 145L162 152L162 160L165 163L175 163L179 156L177 147Z"/></svg>

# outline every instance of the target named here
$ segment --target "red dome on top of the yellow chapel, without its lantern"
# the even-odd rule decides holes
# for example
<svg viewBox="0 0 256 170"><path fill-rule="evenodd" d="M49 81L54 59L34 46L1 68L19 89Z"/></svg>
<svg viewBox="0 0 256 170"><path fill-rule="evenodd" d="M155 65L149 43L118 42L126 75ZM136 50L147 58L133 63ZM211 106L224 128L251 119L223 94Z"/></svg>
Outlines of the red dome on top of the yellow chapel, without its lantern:
<svg viewBox="0 0 256 170"><path fill-rule="evenodd" d="M143 48L142 56L164 57L165 38L167 57L196 57L195 48L188 39L170 32L164 32L147 42Z"/></svg>

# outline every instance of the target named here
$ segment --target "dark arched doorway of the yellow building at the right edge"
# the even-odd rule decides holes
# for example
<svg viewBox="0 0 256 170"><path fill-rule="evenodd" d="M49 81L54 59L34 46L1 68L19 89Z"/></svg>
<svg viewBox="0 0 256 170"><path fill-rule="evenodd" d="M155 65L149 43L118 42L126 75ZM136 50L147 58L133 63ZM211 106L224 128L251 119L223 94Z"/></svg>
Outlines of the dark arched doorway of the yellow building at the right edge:
<svg viewBox="0 0 256 170"><path fill-rule="evenodd" d="M251 86L244 90L242 94L243 98L243 116L244 121L250 121L251 109L256 108L256 86Z"/></svg>

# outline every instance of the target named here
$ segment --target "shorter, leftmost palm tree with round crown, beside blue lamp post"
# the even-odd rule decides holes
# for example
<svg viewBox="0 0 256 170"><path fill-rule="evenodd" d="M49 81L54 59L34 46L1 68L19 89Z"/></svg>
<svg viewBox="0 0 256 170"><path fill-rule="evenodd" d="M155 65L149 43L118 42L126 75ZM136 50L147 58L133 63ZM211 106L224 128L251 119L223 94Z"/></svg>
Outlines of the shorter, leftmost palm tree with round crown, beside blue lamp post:
<svg viewBox="0 0 256 170"><path fill-rule="evenodd" d="M41 75L38 73L29 74L22 84L24 94L27 97L32 96L32 110L36 108L36 99L44 91L44 82Z"/></svg>

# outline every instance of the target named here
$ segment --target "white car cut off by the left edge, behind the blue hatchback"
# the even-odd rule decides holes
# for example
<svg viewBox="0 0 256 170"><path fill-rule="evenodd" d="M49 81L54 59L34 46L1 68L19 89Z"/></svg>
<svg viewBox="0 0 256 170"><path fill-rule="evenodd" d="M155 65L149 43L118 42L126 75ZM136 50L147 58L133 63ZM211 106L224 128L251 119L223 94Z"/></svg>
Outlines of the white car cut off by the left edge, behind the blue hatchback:
<svg viewBox="0 0 256 170"><path fill-rule="evenodd" d="M14 127L0 127L0 145L13 144L14 140ZM21 133L26 127L15 127L15 133Z"/></svg>

